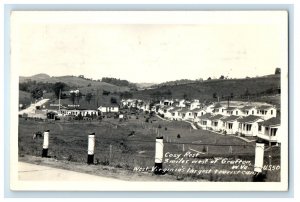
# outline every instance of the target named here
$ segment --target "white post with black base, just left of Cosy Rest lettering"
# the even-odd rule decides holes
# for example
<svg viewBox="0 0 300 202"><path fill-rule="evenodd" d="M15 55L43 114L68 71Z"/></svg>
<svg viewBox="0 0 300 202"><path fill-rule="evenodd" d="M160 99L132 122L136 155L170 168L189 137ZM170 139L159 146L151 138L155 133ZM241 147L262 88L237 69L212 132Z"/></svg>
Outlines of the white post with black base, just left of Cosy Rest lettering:
<svg viewBox="0 0 300 202"><path fill-rule="evenodd" d="M164 156L164 142L163 137L156 137L155 143L155 169L154 174L160 175L163 174L163 156Z"/></svg>

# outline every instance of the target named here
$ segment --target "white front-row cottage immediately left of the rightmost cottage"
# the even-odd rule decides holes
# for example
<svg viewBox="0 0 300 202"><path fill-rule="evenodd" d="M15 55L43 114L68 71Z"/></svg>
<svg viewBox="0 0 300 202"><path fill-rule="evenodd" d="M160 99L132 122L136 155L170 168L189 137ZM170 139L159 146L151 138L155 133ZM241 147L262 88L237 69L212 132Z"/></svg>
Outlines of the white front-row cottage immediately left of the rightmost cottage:
<svg viewBox="0 0 300 202"><path fill-rule="evenodd" d="M258 134L258 124L262 122L263 119L259 116L245 116L238 120L239 128L238 132L244 134L245 136L257 136Z"/></svg>

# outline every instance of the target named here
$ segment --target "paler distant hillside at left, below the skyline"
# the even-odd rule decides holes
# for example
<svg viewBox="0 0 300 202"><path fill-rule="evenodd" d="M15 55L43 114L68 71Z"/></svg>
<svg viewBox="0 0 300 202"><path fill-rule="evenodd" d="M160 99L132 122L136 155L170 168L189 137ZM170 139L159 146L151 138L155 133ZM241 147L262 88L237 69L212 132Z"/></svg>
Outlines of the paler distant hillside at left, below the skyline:
<svg viewBox="0 0 300 202"><path fill-rule="evenodd" d="M110 92L123 92L128 91L128 87L120 87L116 85L112 85L105 82L90 80L82 77L76 76L59 76L59 77L50 77L47 74L37 74L30 77L19 77L19 83L27 82L27 81L36 81L43 83L56 83L63 82L66 83L71 88L78 88L82 90L83 93L99 90L107 90Z"/></svg>

